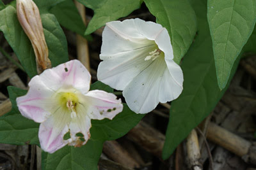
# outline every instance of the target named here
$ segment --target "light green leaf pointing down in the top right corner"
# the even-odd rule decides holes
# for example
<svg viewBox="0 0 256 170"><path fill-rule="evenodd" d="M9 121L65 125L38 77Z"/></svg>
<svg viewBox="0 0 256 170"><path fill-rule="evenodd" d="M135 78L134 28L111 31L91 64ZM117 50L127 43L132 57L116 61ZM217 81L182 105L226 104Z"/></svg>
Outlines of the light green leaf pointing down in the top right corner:
<svg viewBox="0 0 256 170"><path fill-rule="evenodd" d="M209 0L207 13L218 85L224 89L232 67L252 34L256 21L255 0Z"/></svg>

